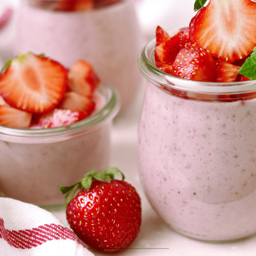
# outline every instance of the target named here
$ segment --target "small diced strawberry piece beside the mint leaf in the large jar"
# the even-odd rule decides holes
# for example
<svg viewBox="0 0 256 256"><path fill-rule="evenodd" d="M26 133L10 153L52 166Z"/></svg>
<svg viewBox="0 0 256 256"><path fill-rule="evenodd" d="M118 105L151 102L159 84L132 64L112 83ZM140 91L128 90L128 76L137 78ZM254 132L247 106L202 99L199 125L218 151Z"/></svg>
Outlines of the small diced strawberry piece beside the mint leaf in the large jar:
<svg viewBox="0 0 256 256"><path fill-rule="evenodd" d="M235 82L240 67L235 66L220 59L217 60L217 80L216 82Z"/></svg>

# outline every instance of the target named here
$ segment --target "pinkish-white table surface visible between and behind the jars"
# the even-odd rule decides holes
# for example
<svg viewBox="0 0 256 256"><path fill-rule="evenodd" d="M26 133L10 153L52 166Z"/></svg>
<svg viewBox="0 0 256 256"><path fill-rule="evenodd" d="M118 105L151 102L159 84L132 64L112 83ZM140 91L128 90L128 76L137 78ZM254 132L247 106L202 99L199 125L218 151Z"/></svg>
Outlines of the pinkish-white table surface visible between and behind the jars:
<svg viewBox="0 0 256 256"><path fill-rule="evenodd" d="M19 2L20 0L1 0L0 10L9 5L18 8ZM136 2L139 22L146 41L154 36L157 25L166 30L184 27L189 24L189 20L194 15L191 11L194 0L161 0L158 2L161 5L158 4L157 6L154 0L136 0ZM164 8L165 5L168 8ZM173 11L177 9L179 11ZM183 14L187 10L187 15L180 15L181 10L183 10ZM161 13L162 11L164 13ZM0 33L0 65L11 56L13 29L14 20ZM136 150L137 128L143 103L144 87L145 81L133 104L125 113L119 114L113 124L110 165L122 170L126 177L125 180L136 188L142 203L141 231L129 249L118 255L256 256L256 236L232 243L208 243L187 238L168 228L148 203L139 180ZM52 213L69 227L65 211ZM95 255L102 254L95 253Z"/></svg>

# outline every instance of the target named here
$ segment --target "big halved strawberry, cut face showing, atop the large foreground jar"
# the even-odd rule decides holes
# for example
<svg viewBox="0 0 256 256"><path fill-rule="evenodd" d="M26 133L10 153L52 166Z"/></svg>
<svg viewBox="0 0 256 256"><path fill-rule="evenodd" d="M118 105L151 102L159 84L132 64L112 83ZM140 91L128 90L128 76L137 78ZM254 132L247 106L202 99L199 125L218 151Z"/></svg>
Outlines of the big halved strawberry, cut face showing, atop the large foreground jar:
<svg viewBox="0 0 256 256"><path fill-rule="evenodd" d="M256 3L210 0L189 24L191 41L216 58L232 63L256 46Z"/></svg>

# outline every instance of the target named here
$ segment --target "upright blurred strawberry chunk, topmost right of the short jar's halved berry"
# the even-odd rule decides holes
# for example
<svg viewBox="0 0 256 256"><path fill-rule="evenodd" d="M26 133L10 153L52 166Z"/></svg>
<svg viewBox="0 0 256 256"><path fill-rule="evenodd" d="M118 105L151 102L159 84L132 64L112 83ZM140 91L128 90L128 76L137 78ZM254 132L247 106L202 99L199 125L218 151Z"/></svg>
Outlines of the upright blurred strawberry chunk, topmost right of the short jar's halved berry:
<svg viewBox="0 0 256 256"><path fill-rule="evenodd" d="M74 63L69 70L68 78L69 88L85 97L91 97L100 83L100 79L90 63L84 60Z"/></svg>

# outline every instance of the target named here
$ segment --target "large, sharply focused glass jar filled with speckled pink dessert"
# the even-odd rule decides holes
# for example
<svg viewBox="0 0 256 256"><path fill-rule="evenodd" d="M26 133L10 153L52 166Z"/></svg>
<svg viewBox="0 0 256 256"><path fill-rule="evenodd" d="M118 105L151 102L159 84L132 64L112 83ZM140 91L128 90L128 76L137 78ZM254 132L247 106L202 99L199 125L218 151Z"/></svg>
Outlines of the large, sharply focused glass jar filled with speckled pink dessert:
<svg viewBox="0 0 256 256"><path fill-rule="evenodd" d="M177 232L236 240L256 232L256 81L185 80L139 54L147 79L138 133L146 196Z"/></svg>

